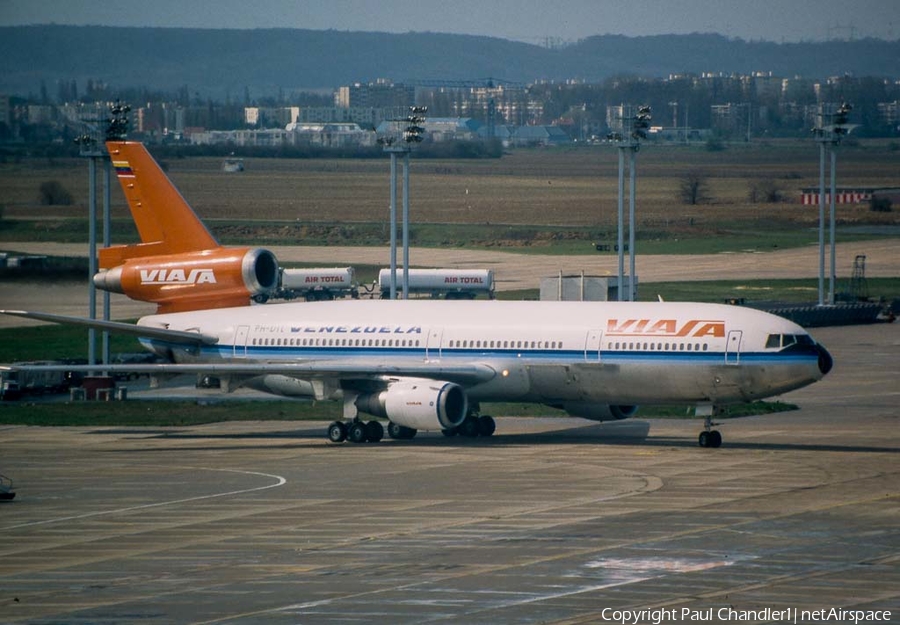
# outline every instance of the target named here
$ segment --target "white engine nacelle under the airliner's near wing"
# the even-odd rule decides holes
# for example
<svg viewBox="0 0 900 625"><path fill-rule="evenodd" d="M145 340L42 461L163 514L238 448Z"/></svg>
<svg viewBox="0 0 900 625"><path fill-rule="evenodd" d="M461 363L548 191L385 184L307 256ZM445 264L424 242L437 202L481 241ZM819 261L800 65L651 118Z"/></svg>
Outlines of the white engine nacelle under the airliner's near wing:
<svg viewBox="0 0 900 625"><path fill-rule="evenodd" d="M448 430L466 418L465 390L452 382L405 378L380 393L360 395L356 407L416 430Z"/></svg>

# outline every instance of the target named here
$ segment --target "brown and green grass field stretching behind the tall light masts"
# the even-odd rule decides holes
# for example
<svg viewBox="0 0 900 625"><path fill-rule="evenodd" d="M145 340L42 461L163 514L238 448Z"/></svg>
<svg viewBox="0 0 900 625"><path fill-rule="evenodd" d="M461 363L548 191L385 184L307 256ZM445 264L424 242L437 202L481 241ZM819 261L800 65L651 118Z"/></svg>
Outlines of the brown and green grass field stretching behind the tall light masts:
<svg viewBox="0 0 900 625"><path fill-rule="evenodd" d="M225 243L384 244L388 239L389 167L384 160L246 159L228 174L221 160L165 163L182 195ZM900 186L900 152L884 143L842 146L839 186ZM83 241L86 164L70 159L0 164L0 241ZM514 247L592 253L614 237L617 156L609 147L520 150L493 160L416 160L411 167L415 245ZM684 204L678 188L690 171L704 176L709 201ZM58 180L72 206L41 206L41 183ZM771 180L784 201L748 200L752 184ZM818 186L812 141L780 141L708 152L700 147L650 145L637 162L637 233L645 253L691 253L718 248L805 245L815 235L816 207L797 202L802 187ZM134 230L116 181L113 238ZM900 207L874 213L840 206L840 226L900 224ZM841 237L851 236L840 234ZM863 235L853 235L863 236ZM871 234L864 236L873 236Z"/></svg>

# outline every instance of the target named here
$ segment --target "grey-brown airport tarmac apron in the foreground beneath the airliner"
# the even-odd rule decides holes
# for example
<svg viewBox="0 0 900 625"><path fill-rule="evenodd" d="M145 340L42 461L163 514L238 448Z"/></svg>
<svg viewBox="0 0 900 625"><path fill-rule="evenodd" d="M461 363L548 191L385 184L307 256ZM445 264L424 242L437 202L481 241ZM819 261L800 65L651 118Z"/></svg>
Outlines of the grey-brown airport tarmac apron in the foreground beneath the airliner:
<svg viewBox="0 0 900 625"><path fill-rule="evenodd" d="M695 419L0 426L0 622L900 622L900 324L815 335L834 371L720 449Z"/></svg>

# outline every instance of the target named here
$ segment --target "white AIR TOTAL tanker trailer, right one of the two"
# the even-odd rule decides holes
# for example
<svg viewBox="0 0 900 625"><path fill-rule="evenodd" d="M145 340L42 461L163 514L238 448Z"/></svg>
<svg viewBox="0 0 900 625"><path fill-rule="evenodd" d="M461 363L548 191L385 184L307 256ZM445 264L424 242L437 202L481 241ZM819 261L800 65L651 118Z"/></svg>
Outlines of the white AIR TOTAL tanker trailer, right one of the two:
<svg viewBox="0 0 900 625"><path fill-rule="evenodd" d="M391 270L378 272L381 297L390 296ZM397 270L397 292L403 291L403 270ZM494 272L490 269L410 269L410 294L434 298L474 299L479 294L494 297Z"/></svg>

